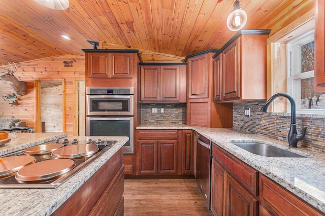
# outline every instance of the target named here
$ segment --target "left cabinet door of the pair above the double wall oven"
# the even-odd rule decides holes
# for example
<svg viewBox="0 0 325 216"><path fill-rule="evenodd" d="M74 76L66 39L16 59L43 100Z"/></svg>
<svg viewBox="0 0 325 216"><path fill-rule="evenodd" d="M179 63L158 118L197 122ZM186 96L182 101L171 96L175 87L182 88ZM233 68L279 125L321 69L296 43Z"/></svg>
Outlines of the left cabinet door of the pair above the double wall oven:
<svg viewBox="0 0 325 216"><path fill-rule="evenodd" d="M86 53L88 77L109 78L110 56L110 53Z"/></svg>

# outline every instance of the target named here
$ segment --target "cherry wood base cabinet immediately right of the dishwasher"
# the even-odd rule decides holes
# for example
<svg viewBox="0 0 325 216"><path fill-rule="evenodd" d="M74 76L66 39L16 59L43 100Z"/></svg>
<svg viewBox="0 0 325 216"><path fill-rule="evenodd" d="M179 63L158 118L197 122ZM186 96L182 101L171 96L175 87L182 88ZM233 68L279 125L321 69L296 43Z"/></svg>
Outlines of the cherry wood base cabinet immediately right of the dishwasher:
<svg viewBox="0 0 325 216"><path fill-rule="evenodd" d="M257 171L212 143L213 215L257 215Z"/></svg>

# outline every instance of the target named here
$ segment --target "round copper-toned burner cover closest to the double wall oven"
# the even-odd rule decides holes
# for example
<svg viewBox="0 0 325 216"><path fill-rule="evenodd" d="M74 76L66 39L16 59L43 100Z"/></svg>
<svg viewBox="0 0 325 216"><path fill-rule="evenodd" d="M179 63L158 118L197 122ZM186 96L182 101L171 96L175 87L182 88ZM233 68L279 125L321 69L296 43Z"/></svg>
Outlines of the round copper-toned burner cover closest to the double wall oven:
<svg viewBox="0 0 325 216"><path fill-rule="evenodd" d="M55 158L80 158L91 156L98 152L98 150L98 147L89 144L65 146L53 151L51 156Z"/></svg>

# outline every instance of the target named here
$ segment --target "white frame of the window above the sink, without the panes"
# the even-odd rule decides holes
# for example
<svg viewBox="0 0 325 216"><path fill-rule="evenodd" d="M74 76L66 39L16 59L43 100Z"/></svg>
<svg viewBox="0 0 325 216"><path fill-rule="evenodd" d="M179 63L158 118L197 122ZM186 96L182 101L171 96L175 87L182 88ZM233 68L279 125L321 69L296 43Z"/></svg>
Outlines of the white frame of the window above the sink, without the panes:
<svg viewBox="0 0 325 216"><path fill-rule="evenodd" d="M314 29L299 35L297 38L286 43L287 49L287 93L291 95L296 102L297 113L321 114L324 109L301 109L301 89L300 81L306 78L314 77L314 70L301 73L301 46L314 41ZM313 88L313 86L312 86ZM287 106L287 112L290 112Z"/></svg>

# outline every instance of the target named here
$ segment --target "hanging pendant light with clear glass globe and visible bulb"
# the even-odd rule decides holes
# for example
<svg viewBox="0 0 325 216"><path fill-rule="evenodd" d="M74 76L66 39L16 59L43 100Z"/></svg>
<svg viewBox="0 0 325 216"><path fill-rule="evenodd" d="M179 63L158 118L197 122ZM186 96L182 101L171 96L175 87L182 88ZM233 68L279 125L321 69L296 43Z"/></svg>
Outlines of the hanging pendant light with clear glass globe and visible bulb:
<svg viewBox="0 0 325 216"><path fill-rule="evenodd" d="M245 11L240 7L240 2L234 2L234 10L231 12L227 19L227 26L232 31L238 31L244 27L247 21Z"/></svg>

